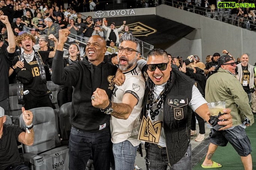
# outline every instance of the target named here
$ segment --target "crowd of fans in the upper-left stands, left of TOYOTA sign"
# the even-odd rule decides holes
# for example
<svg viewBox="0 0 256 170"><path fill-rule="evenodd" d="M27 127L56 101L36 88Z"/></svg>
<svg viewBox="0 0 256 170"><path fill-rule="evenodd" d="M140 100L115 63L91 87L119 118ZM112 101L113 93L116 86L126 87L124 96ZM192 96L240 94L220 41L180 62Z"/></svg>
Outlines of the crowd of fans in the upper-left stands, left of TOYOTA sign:
<svg viewBox="0 0 256 170"><path fill-rule="evenodd" d="M110 40L114 41L116 45L119 43L121 35L131 33L129 27L126 26L115 29L115 23L108 21L102 23L102 19L93 20L91 16L85 17L77 11L87 12L88 5L90 6L93 1L86 1L84 3L87 6L82 5L79 1L71 1L69 7L64 9L62 5L57 5L56 2L52 4L45 4L40 0L36 1L12 1L12 0L1 0L0 10L7 15L9 22L12 25L12 29L17 34L33 31L36 36L42 34L55 34L58 30L67 28L70 31L70 36L75 37L78 35L78 39L82 40L81 37L91 37L91 35L100 35L107 40L109 45ZM97 1L96 3L97 4ZM94 9L97 10L96 6ZM104 27L104 28L103 28ZM3 35L6 27L0 23L1 33ZM112 31L114 30L114 34ZM53 46L53 43L50 43Z"/></svg>

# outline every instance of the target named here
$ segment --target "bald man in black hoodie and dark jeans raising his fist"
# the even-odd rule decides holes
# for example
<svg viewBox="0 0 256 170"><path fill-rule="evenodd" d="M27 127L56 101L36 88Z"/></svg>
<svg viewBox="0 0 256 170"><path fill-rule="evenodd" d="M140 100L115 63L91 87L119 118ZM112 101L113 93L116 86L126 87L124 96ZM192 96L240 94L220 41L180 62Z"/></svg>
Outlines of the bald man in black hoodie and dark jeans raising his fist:
<svg viewBox="0 0 256 170"><path fill-rule="evenodd" d="M104 60L106 41L99 35L93 35L86 44L87 57L64 68L63 46L69 33L67 29L59 30L59 42L52 62L52 81L74 87L70 109L69 169L85 169L92 155L94 169L109 170L112 146L110 116L92 106L91 96L101 88L111 98L117 67Z"/></svg>

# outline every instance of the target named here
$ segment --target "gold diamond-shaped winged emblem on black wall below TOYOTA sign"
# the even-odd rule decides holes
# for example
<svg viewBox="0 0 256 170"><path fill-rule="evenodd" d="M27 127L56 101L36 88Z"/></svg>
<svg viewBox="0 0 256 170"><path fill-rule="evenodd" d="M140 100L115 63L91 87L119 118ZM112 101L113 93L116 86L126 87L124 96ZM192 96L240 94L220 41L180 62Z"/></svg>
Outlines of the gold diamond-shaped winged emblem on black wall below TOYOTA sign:
<svg viewBox="0 0 256 170"><path fill-rule="evenodd" d="M127 24L132 31L132 35L135 37L148 36L156 33L156 29L149 27L148 25L142 24L141 22L135 22L133 24Z"/></svg>

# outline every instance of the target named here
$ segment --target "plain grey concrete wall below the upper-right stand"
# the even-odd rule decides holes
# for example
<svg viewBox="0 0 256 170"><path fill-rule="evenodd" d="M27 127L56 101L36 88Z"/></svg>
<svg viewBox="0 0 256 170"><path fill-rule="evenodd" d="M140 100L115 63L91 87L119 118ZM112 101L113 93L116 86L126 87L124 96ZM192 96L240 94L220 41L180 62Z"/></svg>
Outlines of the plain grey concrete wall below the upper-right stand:
<svg viewBox="0 0 256 170"><path fill-rule="evenodd" d="M253 65L256 62L256 33L253 31L166 5L156 7L156 15L196 28L186 37L170 44L166 50L172 54L180 54L184 58L191 54L199 55L201 51L202 57L199 57L204 62L207 55L226 49L235 58L247 53L249 63ZM201 39L201 43L198 39Z"/></svg>

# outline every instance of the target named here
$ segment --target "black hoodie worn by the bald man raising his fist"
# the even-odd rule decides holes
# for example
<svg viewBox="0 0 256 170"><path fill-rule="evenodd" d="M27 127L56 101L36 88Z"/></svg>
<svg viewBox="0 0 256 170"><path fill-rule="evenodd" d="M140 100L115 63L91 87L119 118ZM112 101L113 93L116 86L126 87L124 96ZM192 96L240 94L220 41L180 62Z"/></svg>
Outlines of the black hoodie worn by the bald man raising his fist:
<svg viewBox="0 0 256 170"><path fill-rule="evenodd" d="M70 121L72 127L84 132L109 130L109 115L91 104L91 96L97 87L106 91L111 98L117 67L106 60L95 66L84 58L63 67L63 51L56 50L52 61L52 81L58 85L73 86Z"/></svg>

